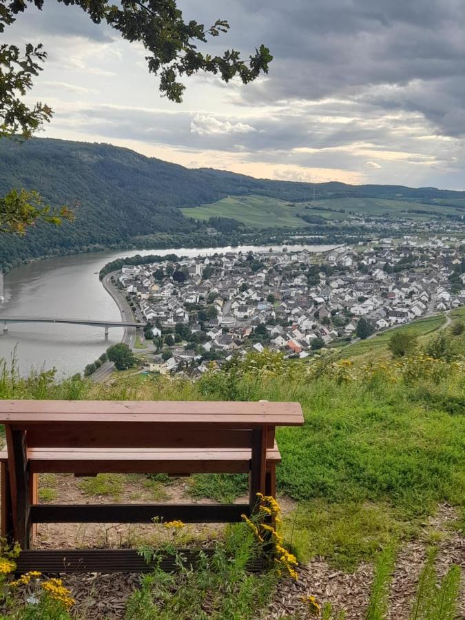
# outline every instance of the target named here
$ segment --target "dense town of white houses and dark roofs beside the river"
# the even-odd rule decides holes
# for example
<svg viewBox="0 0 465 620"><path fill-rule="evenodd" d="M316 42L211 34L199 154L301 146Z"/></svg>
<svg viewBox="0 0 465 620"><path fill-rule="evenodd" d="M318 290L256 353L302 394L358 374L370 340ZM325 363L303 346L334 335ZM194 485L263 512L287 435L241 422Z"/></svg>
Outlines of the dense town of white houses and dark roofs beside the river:
<svg viewBox="0 0 465 620"><path fill-rule="evenodd" d="M200 376L271 349L306 358L465 304L464 241L453 236L231 251L123 266L112 282L154 342L148 371Z"/></svg>

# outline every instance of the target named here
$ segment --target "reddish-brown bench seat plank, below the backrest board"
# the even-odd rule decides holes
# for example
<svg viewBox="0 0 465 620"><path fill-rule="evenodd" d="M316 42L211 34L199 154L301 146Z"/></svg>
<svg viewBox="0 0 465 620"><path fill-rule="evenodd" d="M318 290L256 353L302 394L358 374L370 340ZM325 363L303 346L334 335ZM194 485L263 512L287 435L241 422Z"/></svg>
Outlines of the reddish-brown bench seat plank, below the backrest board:
<svg viewBox="0 0 465 620"><path fill-rule="evenodd" d="M275 442L267 449L267 467L281 455ZM247 473L249 448L29 448L31 473ZM0 451L0 462L8 452Z"/></svg>

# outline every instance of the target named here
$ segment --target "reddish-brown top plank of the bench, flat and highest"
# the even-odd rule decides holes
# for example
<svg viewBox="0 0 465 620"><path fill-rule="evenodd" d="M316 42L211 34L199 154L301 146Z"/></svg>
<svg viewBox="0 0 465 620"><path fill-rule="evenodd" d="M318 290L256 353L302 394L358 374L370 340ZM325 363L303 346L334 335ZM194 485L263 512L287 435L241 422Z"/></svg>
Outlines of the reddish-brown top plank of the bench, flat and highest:
<svg viewBox="0 0 465 620"><path fill-rule="evenodd" d="M234 424L299 426L296 402L3 400L0 424L28 422L152 422L156 424Z"/></svg>

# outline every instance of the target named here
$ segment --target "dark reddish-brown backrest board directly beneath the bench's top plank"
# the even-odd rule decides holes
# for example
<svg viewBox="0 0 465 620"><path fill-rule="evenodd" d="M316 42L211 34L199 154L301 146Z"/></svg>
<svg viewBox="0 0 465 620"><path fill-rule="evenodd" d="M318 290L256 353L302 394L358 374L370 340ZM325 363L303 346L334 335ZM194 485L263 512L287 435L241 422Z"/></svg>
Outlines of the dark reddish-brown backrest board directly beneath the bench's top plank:
<svg viewBox="0 0 465 620"><path fill-rule="evenodd" d="M16 425L15 425L16 427ZM250 448L251 431L181 428L154 424L54 424L26 426L29 448Z"/></svg>

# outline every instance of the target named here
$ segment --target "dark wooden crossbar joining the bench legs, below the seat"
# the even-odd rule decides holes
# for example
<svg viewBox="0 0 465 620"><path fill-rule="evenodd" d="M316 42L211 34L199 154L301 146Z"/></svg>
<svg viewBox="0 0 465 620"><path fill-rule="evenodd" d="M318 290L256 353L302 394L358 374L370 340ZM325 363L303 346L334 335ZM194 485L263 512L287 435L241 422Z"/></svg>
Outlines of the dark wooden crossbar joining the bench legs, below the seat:
<svg viewBox="0 0 465 620"><path fill-rule="evenodd" d="M41 504L31 506L32 523L238 523L247 504Z"/></svg>

